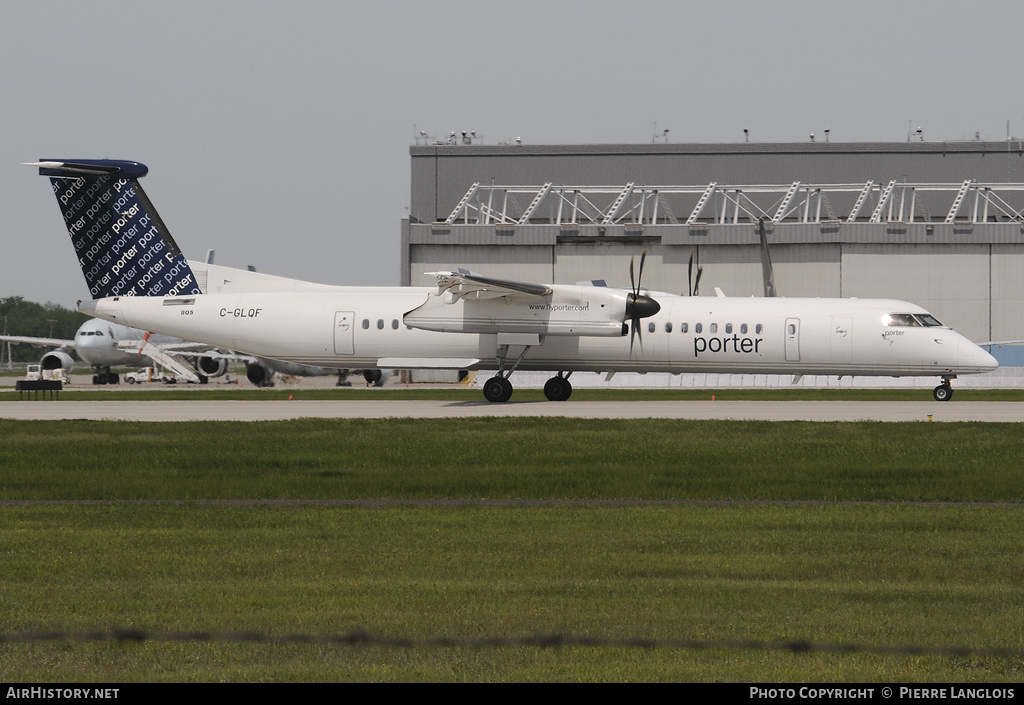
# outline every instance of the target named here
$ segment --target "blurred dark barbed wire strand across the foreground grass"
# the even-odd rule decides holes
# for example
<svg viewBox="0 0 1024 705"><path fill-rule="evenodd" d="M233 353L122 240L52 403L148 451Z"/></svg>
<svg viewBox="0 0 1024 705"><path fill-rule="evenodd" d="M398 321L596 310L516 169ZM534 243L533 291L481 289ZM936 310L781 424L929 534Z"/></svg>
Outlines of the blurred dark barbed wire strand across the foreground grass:
<svg viewBox="0 0 1024 705"><path fill-rule="evenodd" d="M96 631L23 631L0 633L0 644L38 641L116 641L116 642L243 642L243 644L309 644L350 647L385 647L392 649L471 648L501 649L531 647L539 649L614 647L621 649L685 649L694 651L776 651L794 654L843 653L910 656L982 656L1024 659L1024 649L1002 647L935 647L887 646L867 644L827 644L807 640L760 641L722 639L666 639L647 637L596 637L569 634L537 634L532 636L380 636L356 629L344 634L268 634L258 631L143 631L111 629Z"/></svg>

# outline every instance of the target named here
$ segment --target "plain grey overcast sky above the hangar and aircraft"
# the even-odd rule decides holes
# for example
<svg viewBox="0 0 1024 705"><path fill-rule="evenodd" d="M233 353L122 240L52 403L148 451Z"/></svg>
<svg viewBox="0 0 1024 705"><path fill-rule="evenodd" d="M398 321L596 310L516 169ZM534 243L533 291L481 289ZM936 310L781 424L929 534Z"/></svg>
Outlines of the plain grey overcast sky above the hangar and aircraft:
<svg viewBox="0 0 1024 705"><path fill-rule="evenodd" d="M399 281L414 129L493 144L1024 134L1024 3L48 2L0 20L0 296L85 282L22 162L117 158L190 258Z"/></svg>

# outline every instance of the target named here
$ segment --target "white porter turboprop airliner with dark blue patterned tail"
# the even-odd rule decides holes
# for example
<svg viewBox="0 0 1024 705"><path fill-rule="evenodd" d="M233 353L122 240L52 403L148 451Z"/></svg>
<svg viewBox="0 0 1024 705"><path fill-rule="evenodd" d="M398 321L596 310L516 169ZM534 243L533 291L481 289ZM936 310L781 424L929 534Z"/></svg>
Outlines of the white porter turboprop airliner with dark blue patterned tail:
<svg viewBox="0 0 1024 705"><path fill-rule="evenodd" d="M530 284L466 271L433 287L337 287L187 262L138 184L147 168L46 160L93 300L106 321L275 360L345 368L934 376L938 401L995 359L912 303L678 296L639 287ZM195 269L195 272L194 272ZM633 266L630 266L633 280ZM638 344L634 344L638 343Z"/></svg>

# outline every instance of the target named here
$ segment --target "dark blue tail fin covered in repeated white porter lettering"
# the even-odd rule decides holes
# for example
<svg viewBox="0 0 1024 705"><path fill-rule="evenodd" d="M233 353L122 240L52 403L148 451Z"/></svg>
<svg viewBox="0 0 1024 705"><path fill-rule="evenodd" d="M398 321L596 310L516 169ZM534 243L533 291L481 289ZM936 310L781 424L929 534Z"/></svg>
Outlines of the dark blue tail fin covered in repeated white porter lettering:
<svg viewBox="0 0 1024 705"><path fill-rule="evenodd" d="M43 160L92 298L203 293L138 179L148 168L112 159Z"/></svg>

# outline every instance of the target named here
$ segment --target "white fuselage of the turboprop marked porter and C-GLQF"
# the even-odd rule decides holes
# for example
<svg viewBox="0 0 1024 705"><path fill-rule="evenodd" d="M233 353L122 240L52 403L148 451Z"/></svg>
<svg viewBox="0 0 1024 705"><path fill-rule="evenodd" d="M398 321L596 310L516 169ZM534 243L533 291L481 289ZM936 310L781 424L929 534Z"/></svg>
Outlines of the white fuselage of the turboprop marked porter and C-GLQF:
<svg viewBox="0 0 1024 705"><path fill-rule="evenodd" d="M497 369L503 342L511 344L513 356L517 345L528 344L497 332L407 326L406 315L435 293L430 288L338 287L112 297L85 302L82 309L135 328L323 367L378 367L402 359L408 362L402 367L439 367L430 361L451 360L464 363L460 369ZM905 301L653 295L662 308L640 322L642 337L632 350L630 336L622 333L541 334L518 369L953 377L996 367L987 352L937 322L900 325L897 319L894 325L887 317L928 316ZM462 310L450 306L455 329L467 320L468 305Z"/></svg>

